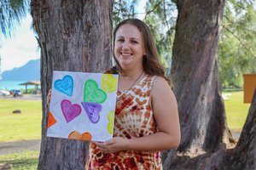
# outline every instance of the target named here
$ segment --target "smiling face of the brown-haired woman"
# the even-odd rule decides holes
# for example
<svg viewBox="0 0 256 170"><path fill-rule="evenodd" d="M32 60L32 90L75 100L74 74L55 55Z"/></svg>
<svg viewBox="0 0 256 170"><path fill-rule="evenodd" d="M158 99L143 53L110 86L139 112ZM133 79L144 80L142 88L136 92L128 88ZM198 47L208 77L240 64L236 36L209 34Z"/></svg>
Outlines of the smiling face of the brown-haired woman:
<svg viewBox="0 0 256 170"><path fill-rule="evenodd" d="M145 54L143 36L137 27L130 24L120 26L115 35L114 55L122 69L143 67Z"/></svg>

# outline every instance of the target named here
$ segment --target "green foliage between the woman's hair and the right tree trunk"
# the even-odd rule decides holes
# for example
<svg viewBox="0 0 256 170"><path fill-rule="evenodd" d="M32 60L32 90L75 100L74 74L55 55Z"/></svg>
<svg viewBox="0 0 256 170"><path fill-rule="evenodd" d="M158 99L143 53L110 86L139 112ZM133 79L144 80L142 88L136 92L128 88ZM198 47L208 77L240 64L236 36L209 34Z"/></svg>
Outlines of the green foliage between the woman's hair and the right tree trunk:
<svg viewBox="0 0 256 170"><path fill-rule="evenodd" d="M154 34L156 46L162 62L171 71L172 43L174 41L177 20L177 6L171 1L149 0L146 3L144 21Z"/></svg>

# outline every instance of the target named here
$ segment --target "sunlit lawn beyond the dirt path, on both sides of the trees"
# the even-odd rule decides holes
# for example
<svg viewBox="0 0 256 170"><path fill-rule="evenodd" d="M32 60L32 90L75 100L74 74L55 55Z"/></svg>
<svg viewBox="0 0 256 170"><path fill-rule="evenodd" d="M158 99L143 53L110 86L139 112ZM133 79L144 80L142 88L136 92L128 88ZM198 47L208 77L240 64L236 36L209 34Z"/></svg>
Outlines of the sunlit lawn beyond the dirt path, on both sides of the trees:
<svg viewBox="0 0 256 170"><path fill-rule="evenodd" d="M228 126L232 131L240 131L250 104L243 103L242 91L223 94L231 94L224 100ZM21 114L13 114L15 110ZM0 99L0 116L0 142L40 139L41 100Z"/></svg>

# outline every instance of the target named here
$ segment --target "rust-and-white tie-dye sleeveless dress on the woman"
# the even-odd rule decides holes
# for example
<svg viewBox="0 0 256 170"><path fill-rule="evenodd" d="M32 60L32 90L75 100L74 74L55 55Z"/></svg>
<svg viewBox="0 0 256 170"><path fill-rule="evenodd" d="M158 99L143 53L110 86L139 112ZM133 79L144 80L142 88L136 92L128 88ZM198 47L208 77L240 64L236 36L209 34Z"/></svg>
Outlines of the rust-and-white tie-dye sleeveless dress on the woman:
<svg viewBox="0 0 256 170"><path fill-rule="evenodd" d="M117 93L113 137L140 138L158 132L150 105L150 91L155 76L146 75L132 88ZM102 153L90 144L88 169L143 170L162 169L160 151L124 150Z"/></svg>

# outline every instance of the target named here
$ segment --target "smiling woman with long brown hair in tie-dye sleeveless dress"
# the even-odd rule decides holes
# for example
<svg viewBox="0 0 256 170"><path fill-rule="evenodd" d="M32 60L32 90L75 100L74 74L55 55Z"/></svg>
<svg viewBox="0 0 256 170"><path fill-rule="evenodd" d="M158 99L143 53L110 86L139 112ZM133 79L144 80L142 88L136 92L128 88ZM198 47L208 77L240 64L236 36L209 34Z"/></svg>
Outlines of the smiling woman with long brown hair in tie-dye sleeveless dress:
<svg viewBox="0 0 256 170"><path fill-rule="evenodd" d="M113 139L90 145L89 169L162 169L160 150L177 148L177 101L145 23L124 20L113 31L119 73ZM112 71L112 73L114 73Z"/></svg>

